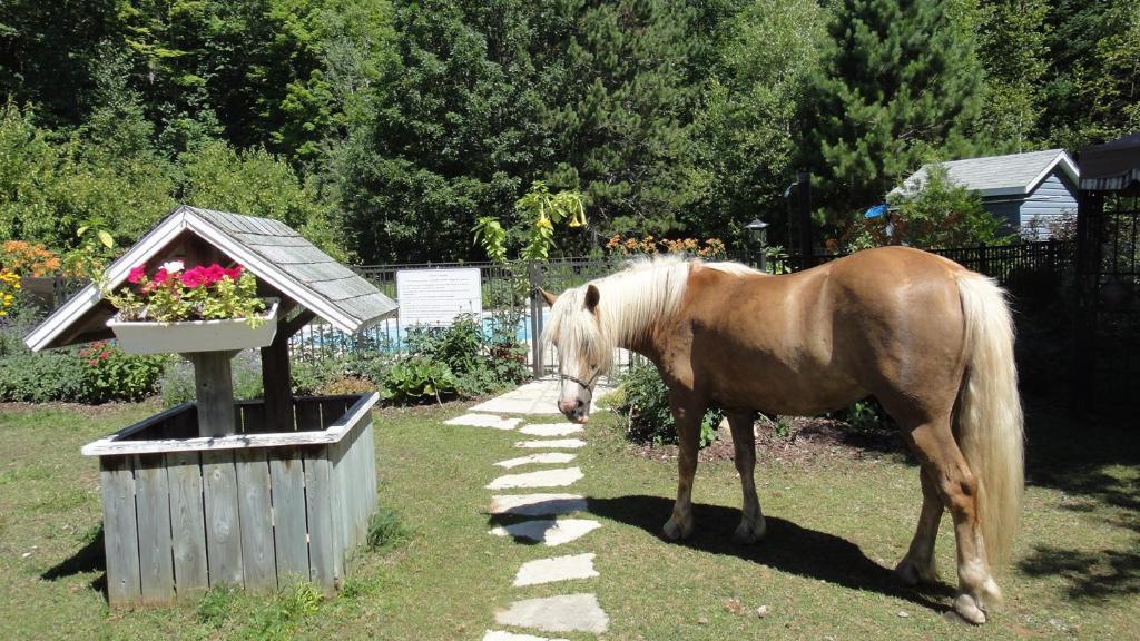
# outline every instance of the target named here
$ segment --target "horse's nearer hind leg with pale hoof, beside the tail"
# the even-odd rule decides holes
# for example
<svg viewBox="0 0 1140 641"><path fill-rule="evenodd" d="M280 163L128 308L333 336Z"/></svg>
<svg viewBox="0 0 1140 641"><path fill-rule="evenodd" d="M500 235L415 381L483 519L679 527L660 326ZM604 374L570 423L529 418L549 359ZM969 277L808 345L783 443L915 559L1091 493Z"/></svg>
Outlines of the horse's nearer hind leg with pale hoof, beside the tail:
<svg viewBox="0 0 1140 641"><path fill-rule="evenodd" d="M1001 600L1001 590L990 576L978 527L977 479L954 441L948 417L919 425L910 436L922 472L929 474L954 518L959 583L954 611L970 623L985 623L986 608Z"/></svg>

